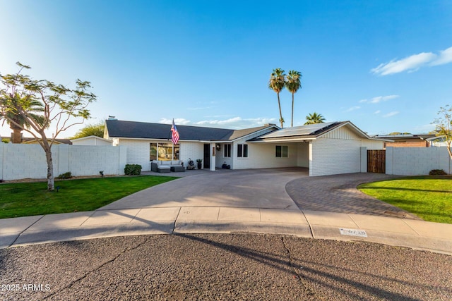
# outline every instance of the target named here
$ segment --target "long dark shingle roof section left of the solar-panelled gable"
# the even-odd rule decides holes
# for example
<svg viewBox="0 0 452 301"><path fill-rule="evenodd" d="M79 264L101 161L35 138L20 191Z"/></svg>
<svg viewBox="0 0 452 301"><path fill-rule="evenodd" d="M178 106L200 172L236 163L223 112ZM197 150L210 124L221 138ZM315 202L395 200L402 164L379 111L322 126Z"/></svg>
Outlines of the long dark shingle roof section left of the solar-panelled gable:
<svg viewBox="0 0 452 301"><path fill-rule="evenodd" d="M232 141L256 133L259 130L278 129L276 125L269 124L257 128L231 130L225 128L204 128L192 125L176 125L180 140L194 141ZM141 139L170 139L171 125L162 123L143 123L136 121L105 121L105 128L110 138L141 138Z"/></svg>

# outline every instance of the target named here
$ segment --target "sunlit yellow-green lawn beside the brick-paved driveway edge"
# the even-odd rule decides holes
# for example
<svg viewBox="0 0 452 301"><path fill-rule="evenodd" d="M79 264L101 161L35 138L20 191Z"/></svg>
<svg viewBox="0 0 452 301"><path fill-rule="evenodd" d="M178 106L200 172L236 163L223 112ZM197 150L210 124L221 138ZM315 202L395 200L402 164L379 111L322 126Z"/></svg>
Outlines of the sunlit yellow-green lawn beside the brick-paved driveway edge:
<svg viewBox="0 0 452 301"><path fill-rule="evenodd" d="M418 176L366 183L358 189L416 214L424 221L452 223L451 176Z"/></svg>

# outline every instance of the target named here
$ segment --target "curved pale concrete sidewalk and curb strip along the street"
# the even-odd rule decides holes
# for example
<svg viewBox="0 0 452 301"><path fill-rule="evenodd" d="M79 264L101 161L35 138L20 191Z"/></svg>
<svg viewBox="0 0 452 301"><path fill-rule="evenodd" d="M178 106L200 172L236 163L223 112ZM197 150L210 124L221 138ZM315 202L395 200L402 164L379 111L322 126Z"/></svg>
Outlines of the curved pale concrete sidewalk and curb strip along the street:
<svg viewBox="0 0 452 301"><path fill-rule="evenodd" d="M0 248L126 235L259 233L367 241L452 254L452 225L324 211L236 207L97 210L0 220Z"/></svg>

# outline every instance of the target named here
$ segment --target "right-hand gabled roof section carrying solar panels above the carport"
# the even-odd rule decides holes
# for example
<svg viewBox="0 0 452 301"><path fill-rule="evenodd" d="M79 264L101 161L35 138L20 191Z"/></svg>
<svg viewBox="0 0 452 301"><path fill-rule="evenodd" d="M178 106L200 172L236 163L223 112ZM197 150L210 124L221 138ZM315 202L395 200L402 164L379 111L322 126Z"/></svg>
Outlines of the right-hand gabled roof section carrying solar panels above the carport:
<svg viewBox="0 0 452 301"><path fill-rule="evenodd" d="M364 139L381 140L369 137L362 130L350 121L335 121L328 123L316 123L311 125L295 126L292 128L283 128L272 133L261 135L250 142L296 142L302 140L314 140L325 135L332 130L342 128L343 126L352 130L353 133Z"/></svg>

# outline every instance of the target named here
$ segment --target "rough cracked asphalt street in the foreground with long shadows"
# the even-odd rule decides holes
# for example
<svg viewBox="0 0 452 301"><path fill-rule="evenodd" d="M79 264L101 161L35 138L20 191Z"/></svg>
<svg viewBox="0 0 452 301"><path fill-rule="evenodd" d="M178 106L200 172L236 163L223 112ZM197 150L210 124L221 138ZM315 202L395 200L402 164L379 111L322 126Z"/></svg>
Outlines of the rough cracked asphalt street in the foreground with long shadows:
<svg viewBox="0 0 452 301"><path fill-rule="evenodd" d="M283 235L142 235L0 250L0 300L452 300L451 279L448 255Z"/></svg>

